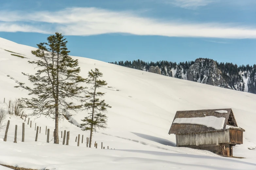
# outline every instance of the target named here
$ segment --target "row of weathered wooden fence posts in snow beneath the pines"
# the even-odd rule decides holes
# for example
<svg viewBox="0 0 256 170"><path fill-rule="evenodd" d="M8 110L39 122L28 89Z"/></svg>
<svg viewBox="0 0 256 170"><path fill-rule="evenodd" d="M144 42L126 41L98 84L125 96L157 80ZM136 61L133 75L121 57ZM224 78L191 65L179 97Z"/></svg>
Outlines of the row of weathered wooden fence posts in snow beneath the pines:
<svg viewBox="0 0 256 170"><path fill-rule="evenodd" d="M26 121L26 117L25 117L25 121ZM8 134L9 124L10 124L10 120L8 120L8 123L7 123L7 126L6 126L5 137L4 137L5 142L7 141L7 134ZM29 124L29 118L28 118L27 124ZM32 125L32 121L30 120L30 128L31 128L31 125ZM17 143L17 127L18 126L15 125L14 143ZM39 131L39 133L41 133L41 126L40 126L40 130L39 130L39 126L36 126L36 123L35 123L35 130L36 130L36 140L35 141L37 141L38 131ZM50 129L47 129L47 126L45 127L45 135L47 135L46 142L49 143ZM54 135L55 135L55 130L53 131L53 137L54 137ZM69 135L70 135L70 132L67 131L67 135L66 135L66 130L64 130L62 145L65 145L65 140L66 140L66 145L68 145ZM61 131L61 138L62 138L62 131ZM83 138L84 138L84 135L82 135L82 143L83 143ZM24 142L24 139L25 139L25 123L22 123L22 142ZM77 142L77 146L79 146L80 134L78 135L78 140L77 140L77 136L76 136L76 142ZM88 148L88 144L89 144L89 137L86 137L86 147L87 148ZM96 141L95 141L94 147L96 149L98 148L98 144L96 143ZM103 147L103 142L101 142L101 149L105 149L105 147ZM109 146L108 146L108 149L109 149Z"/></svg>

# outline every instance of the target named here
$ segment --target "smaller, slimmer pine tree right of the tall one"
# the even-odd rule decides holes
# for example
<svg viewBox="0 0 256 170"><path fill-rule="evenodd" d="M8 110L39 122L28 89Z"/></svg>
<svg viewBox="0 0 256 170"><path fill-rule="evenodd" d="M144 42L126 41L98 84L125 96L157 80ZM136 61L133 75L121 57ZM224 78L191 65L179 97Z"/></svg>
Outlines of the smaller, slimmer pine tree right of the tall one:
<svg viewBox="0 0 256 170"><path fill-rule="evenodd" d="M99 100L98 97L102 97L105 93L97 92L97 89L107 85L105 80L100 80L103 74L99 72L97 68L91 70L88 73L88 78L86 83L91 85L91 88L87 92L85 99L81 100L85 102L84 109L89 110L89 116L85 117L82 121L81 127L84 127L83 130L90 130L90 142L89 147L91 148L93 131L96 129L107 128L107 116L103 114L107 111L107 108L111 108L108 104L105 103L105 100Z"/></svg>

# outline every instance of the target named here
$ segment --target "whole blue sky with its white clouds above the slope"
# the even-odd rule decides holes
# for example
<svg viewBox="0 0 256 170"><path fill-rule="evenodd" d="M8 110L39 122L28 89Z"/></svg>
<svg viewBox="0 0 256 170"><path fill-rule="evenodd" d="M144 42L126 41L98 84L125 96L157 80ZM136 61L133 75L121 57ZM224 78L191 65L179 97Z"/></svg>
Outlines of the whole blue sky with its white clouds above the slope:
<svg viewBox="0 0 256 170"><path fill-rule="evenodd" d="M255 0L1 0L0 37L36 47L56 31L70 55L105 62L211 58L256 64Z"/></svg>

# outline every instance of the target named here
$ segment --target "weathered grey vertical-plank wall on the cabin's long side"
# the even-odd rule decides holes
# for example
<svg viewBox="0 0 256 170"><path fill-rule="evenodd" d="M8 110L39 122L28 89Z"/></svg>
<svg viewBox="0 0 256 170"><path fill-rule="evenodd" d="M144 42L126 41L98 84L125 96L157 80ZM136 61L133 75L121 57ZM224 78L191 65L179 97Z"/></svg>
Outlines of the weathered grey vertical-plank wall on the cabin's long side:
<svg viewBox="0 0 256 170"><path fill-rule="evenodd" d="M229 129L225 131L206 132L197 134L176 134L176 145L210 145L220 143L230 143Z"/></svg>

